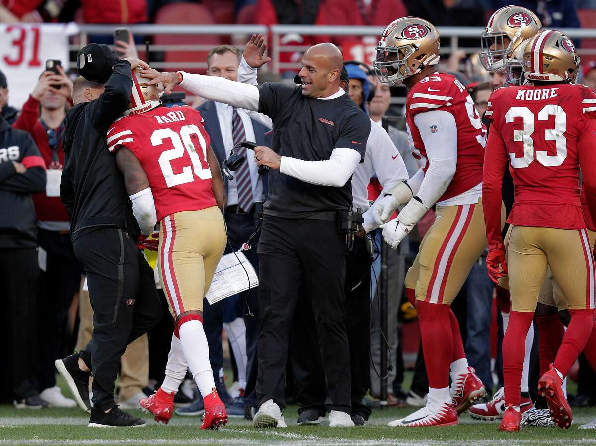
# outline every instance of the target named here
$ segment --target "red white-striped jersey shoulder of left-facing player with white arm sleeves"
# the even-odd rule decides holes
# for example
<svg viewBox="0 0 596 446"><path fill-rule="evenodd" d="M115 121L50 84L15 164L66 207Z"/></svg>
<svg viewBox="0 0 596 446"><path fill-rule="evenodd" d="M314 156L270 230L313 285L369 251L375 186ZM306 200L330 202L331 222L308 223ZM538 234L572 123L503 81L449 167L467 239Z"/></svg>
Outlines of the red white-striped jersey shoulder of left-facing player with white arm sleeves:
<svg viewBox="0 0 596 446"><path fill-rule="evenodd" d="M414 116L429 110L451 107L458 93L461 93L460 89L452 76L428 76L410 90L406 103L407 112Z"/></svg>

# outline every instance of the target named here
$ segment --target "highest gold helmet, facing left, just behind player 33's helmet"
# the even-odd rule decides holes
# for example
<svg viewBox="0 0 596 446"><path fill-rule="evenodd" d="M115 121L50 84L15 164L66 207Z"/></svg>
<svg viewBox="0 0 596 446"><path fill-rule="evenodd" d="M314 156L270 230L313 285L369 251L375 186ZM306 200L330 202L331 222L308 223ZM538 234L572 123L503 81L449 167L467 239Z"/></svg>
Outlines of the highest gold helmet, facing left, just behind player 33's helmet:
<svg viewBox="0 0 596 446"><path fill-rule="evenodd" d="M511 52L524 39L536 35L542 23L536 14L519 6L496 10L480 36L480 62L486 70L502 70Z"/></svg>

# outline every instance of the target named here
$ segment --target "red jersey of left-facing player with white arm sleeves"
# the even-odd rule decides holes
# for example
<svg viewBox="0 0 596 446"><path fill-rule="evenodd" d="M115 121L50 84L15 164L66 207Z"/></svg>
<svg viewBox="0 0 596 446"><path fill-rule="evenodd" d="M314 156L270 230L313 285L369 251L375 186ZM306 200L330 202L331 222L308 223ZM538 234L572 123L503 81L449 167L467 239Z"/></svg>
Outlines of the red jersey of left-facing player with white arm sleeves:
<svg viewBox="0 0 596 446"><path fill-rule="evenodd" d="M421 160L425 173L429 168L426 147L414 116L431 110L451 113L457 125L457 166L449 187L437 200L441 202L457 197L482 182L486 127L480 120L474 101L454 76L434 73L417 82L406 97L406 120L412 154ZM433 131L432 126L430 131Z"/></svg>

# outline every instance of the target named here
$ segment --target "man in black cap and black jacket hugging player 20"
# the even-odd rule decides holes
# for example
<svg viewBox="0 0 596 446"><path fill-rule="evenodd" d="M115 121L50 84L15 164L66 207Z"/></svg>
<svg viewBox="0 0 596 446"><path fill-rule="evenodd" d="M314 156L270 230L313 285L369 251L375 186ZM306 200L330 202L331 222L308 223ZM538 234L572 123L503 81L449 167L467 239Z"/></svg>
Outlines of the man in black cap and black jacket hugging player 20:
<svg viewBox="0 0 596 446"><path fill-rule="evenodd" d="M162 306L153 269L136 245L139 228L105 134L128 106L131 70L148 66L134 58L116 62L106 45L87 45L77 58L85 78L73 85L75 107L65 119L60 197L70 213L75 255L87 274L94 329L82 351L55 363L80 407L91 412L89 426L144 426L143 419L114 404L114 383L126 345L159 322Z"/></svg>

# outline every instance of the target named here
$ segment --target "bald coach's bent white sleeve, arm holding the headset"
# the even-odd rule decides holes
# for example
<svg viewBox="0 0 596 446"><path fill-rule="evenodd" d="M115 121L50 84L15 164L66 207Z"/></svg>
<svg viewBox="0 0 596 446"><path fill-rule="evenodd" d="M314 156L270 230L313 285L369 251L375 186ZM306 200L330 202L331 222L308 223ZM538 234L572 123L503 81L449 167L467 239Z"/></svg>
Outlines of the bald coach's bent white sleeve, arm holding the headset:
<svg viewBox="0 0 596 446"><path fill-rule="evenodd" d="M306 161L281 157L280 172L321 186L342 187L360 162L360 154L349 147L336 147L324 161Z"/></svg>

